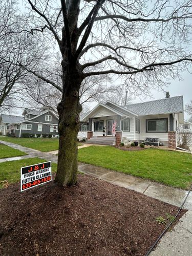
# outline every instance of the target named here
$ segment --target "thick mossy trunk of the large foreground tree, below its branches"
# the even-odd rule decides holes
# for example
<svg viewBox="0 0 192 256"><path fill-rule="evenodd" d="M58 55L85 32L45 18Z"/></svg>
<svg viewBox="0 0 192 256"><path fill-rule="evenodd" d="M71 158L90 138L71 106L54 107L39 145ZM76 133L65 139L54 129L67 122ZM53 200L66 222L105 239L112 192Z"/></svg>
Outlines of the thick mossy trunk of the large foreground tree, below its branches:
<svg viewBox="0 0 192 256"><path fill-rule="evenodd" d="M79 131L79 89L83 80L80 66L63 67L63 95L57 106L59 114L59 153L55 182L74 185L77 182L77 134Z"/></svg>

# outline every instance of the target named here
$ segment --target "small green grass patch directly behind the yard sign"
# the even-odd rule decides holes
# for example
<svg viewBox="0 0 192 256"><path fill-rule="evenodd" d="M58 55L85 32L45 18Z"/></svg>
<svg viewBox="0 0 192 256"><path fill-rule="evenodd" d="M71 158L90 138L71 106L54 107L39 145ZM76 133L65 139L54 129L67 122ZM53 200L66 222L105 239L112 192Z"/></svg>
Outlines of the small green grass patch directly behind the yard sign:
<svg viewBox="0 0 192 256"><path fill-rule="evenodd" d="M3 187L5 182L10 184L20 181L20 168L36 163L47 162L40 158L28 158L17 161L9 161L0 163L0 188ZM52 163L52 172L55 173L57 164Z"/></svg>

